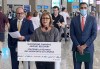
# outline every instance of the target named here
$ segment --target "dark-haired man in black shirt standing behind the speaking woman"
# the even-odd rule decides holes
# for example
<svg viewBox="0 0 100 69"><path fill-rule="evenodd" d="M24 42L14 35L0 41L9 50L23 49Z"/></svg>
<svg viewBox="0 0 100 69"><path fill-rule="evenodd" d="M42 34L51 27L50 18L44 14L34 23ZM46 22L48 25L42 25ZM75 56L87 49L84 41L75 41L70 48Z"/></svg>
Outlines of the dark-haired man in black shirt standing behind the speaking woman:
<svg viewBox="0 0 100 69"><path fill-rule="evenodd" d="M54 6L53 7L53 14L52 14L52 19L53 19L53 25L59 30L60 33L60 41L61 41L61 35L63 34L63 28L65 27L64 24L64 18L62 15L59 14L59 7Z"/></svg>

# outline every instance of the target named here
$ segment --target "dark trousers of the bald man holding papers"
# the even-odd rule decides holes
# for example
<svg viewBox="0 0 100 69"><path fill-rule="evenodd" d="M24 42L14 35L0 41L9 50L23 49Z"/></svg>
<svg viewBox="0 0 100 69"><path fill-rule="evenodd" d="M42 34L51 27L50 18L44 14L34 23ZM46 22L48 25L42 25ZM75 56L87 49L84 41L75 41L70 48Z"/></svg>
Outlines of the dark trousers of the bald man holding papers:
<svg viewBox="0 0 100 69"><path fill-rule="evenodd" d="M11 54L12 69L19 69L19 62L17 61L17 52L15 47L9 47Z"/></svg>

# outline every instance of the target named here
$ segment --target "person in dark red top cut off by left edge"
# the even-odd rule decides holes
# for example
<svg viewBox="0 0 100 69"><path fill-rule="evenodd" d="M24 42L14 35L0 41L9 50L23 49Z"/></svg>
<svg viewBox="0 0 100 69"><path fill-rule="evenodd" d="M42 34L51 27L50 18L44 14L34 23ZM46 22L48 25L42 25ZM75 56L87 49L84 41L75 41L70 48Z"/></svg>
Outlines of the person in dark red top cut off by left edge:
<svg viewBox="0 0 100 69"><path fill-rule="evenodd" d="M9 21L6 15L3 13L2 7L0 6L0 55L2 53L2 46L5 39L5 30L9 27Z"/></svg>

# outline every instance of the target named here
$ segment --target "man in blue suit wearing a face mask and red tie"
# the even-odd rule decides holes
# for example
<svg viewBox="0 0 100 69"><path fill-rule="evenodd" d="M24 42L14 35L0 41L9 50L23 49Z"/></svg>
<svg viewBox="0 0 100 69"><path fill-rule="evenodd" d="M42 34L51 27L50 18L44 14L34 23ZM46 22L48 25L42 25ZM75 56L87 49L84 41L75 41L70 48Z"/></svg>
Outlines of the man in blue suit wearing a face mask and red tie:
<svg viewBox="0 0 100 69"><path fill-rule="evenodd" d="M90 62L85 63L85 69L93 69L94 40L97 36L97 24L95 17L87 15L88 5L80 3L80 15L73 17L70 25L70 36L73 42L74 69L81 69L82 62L77 62L75 52L81 55L88 51Z"/></svg>

